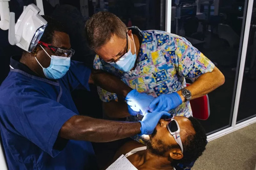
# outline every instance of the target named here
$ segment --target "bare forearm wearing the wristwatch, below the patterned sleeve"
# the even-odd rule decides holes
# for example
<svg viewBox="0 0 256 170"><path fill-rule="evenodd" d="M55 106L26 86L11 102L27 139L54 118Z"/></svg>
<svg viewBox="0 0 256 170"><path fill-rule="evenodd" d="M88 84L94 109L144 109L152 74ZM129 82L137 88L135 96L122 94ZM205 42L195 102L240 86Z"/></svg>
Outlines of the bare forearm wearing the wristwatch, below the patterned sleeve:
<svg viewBox="0 0 256 170"><path fill-rule="evenodd" d="M194 83L187 86L186 88L191 91L191 99L199 98L205 94L208 94L212 90L215 90L225 82L225 77L222 72L215 67L211 72L207 72L201 75ZM184 102L185 99L181 94L181 90L177 91L180 95L181 100Z"/></svg>

